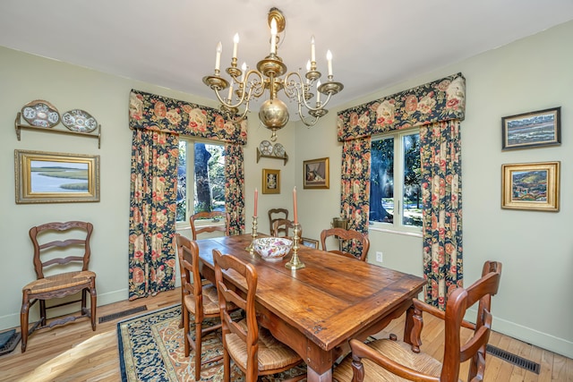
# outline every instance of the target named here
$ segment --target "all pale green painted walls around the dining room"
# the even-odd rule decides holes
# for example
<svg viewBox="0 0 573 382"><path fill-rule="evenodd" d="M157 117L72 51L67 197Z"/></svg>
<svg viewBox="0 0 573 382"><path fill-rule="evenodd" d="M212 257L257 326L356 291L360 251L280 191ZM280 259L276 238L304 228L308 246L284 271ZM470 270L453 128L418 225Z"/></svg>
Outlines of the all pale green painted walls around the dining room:
<svg viewBox="0 0 573 382"><path fill-rule="evenodd" d="M455 72L467 81L467 113L462 123L464 256L466 282L478 278L485 259L503 262L500 293L493 300L494 330L528 343L573 357L573 237L569 234L572 206L571 159L573 142L573 52L568 47L573 22L500 47L440 71L427 73L389 89L356 100L339 109L410 89ZM383 64L381 64L383 66ZM35 277L31 267L28 230L47 221L89 220L94 226L91 267L98 273L98 304L127 298L127 234L129 169L132 133L127 127L130 89L216 106L211 99L151 84L94 72L78 66L26 55L0 47L0 330L19 326L21 286ZM349 84L345 84L350 86ZM13 122L21 106L46 99L60 112L85 109L102 124L101 149L97 140L23 131L16 139ZM561 106L562 145L547 149L501 151L500 118ZM339 110L338 109L338 110ZM281 193L261 194L259 230L269 232L265 211L285 207L292 211L292 189L297 187L299 220L304 236L318 239L332 217L339 214L340 151L336 140L336 113L331 109L316 126L290 123L278 132L286 148L286 166L276 159L256 161L256 148L270 132L252 116L245 146L246 230L252 225L252 194L261 190L263 168L281 171ZM14 149L81 153L101 157L101 201L98 203L16 205L14 202ZM304 190L303 161L330 158L329 190ZM506 163L561 161L559 213L511 211L500 208L500 166ZM419 238L371 230L370 258L384 253L383 266L422 274ZM372 261L372 259L370 259ZM524 301L526 301L524 303Z"/></svg>

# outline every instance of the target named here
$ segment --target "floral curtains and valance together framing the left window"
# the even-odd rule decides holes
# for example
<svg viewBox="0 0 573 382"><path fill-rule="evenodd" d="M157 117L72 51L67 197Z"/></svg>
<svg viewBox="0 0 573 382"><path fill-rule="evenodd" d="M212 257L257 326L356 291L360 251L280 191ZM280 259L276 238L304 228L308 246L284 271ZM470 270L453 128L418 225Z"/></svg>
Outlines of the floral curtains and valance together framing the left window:
<svg viewBox="0 0 573 382"><path fill-rule="evenodd" d="M244 228L243 145L246 121L226 121L210 107L132 90L133 130L129 236L129 299L175 287L175 202L180 134L226 142L231 230ZM232 169L232 170L231 170Z"/></svg>

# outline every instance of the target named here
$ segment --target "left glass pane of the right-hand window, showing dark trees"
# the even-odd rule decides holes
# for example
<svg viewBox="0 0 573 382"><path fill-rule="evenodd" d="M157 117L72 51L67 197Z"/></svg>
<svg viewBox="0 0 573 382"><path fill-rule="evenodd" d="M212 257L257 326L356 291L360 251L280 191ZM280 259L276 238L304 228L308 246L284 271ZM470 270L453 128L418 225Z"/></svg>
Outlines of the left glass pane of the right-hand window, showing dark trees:
<svg viewBox="0 0 573 382"><path fill-rule="evenodd" d="M394 222L394 139L372 140L370 220Z"/></svg>

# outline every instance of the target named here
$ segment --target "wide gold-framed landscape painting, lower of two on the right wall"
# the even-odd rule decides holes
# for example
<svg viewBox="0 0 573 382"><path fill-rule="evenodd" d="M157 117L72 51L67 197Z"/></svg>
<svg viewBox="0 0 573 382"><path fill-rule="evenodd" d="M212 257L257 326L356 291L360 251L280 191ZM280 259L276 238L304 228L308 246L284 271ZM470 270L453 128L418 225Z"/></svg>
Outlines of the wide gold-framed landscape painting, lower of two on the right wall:
<svg viewBox="0 0 573 382"><path fill-rule="evenodd" d="M501 166L501 208L559 212L560 162Z"/></svg>

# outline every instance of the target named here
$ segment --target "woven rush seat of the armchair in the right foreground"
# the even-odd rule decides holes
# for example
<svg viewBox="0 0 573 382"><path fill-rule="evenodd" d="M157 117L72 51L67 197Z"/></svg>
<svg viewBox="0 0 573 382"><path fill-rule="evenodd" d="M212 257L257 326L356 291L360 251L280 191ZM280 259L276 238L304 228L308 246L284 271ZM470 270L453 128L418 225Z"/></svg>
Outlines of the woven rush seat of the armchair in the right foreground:
<svg viewBox="0 0 573 382"><path fill-rule="evenodd" d="M435 360L428 354L423 352L415 353L409 344L404 342L392 341L389 339L381 339L369 343L373 349L381 352L391 360L396 360L400 364L418 371L423 374L432 375L440 378L441 363ZM399 378L397 375L390 373L388 370L377 366L374 362L363 359L364 365L364 382L379 382L379 381L396 381L402 382L408 379ZM345 382L352 380L352 354L348 354L344 361L334 369L333 377L338 382Z"/></svg>

